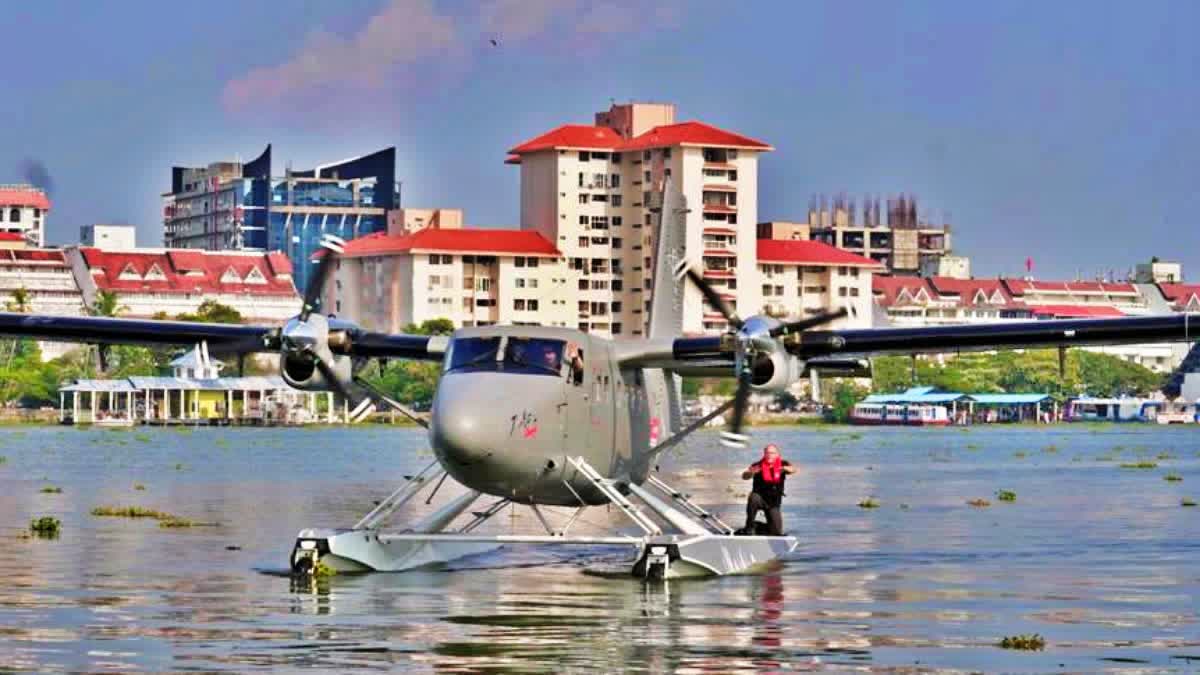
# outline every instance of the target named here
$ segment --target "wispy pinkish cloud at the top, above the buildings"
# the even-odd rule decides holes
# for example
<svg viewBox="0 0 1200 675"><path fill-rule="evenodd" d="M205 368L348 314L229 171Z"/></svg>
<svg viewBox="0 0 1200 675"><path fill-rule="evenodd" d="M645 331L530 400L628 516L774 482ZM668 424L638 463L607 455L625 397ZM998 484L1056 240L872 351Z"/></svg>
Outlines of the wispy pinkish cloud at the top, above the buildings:
<svg viewBox="0 0 1200 675"><path fill-rule="evenodd" d="M319 112L330 100L360 104L425 91L467 77L496 40L502 49L563 52L674 24L673 5L647 8L630 0L487 0L474 16L442 12L431 0L391 0L350 37L311 34L287 61L226 83L230 114ZM344 106L341 106L344 112Z"/></svg>

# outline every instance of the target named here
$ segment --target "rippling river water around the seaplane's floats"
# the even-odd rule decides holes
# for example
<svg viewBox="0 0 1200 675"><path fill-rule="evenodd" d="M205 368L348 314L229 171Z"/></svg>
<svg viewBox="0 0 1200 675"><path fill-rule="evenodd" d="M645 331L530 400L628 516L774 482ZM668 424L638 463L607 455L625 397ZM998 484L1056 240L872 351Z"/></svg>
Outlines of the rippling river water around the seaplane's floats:
<svg viewBox="0 0 1200 675"><path fill-rule="evenodd" d="M623 560L604 549L282 574L300 528L353 524L431 461L416 430L4 429L0 670L1194 671L1200 507L1181 503L1200 500L1198 431L760 429L802 467L785 508L797 554L643 585L587 574ZM751 459L702 434L662 477L737 520ZM1157 466L1121 466L1139 461ZM868 496L880 507L859 508ZM58 539L22 537L40 515L61 519ZM536 532L520 510L490 526ZM624 525L595 508L576 527L605 526ZM1045 650L996 646L1024 633Z"/></svg>

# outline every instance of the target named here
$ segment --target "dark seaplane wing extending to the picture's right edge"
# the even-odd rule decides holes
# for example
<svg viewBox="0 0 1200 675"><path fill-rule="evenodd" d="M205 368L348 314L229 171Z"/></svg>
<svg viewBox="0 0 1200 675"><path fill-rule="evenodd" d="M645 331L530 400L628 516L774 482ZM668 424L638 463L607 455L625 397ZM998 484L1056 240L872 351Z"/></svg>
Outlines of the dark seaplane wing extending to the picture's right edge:
<svg viewBox="0 0 1200 675"><path fill-rule="evenodd" d="M810 330L780 338L792 354L805 360L882 354L954 353L1006 348L1136 345L1200 340L1200 316L1145 316L1060 321L1014 321L922 328L863 328ZM668 359L713 363L731 359L728 336L677 338ZM667 357L667 354L658 354ZM664 359L666 360L666 359Z"/></svg>

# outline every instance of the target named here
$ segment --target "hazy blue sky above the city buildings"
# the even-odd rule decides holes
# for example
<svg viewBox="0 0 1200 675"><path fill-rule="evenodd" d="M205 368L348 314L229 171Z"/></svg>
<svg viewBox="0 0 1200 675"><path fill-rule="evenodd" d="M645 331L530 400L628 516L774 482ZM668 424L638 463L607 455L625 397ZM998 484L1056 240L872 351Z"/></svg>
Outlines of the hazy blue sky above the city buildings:
<svg viewBox="0 0 1200 675"><path fill-rule="evenodd" d="M518 226L505 150L612 101L760 138L758 220L913 193L977 276L1200 280L1196 2L150 0L13 4L0 183L50 243L162 237L173 165L397 149L403 204ZM498 44L493 46L492 40Z"/></svg>

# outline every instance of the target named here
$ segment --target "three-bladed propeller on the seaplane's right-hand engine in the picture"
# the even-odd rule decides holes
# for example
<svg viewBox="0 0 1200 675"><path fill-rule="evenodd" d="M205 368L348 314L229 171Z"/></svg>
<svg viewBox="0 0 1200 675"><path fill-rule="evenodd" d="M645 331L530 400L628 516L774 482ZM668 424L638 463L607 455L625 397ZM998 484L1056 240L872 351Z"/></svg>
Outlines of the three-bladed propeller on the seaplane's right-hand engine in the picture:
<svg viewBox="0 0 1200 675"><path fill-rule="evenodd" d="M846 316L846 310L844 307L786 323L758 316L743 321L725 301L725 298L703 276L688 265L686 261L679 263L676 274L677 276L686 276L708 304L720 312L730 324L730 331L726 333L725 339L732 342L733 372L738 381L738 388L733 395L730 426L721 432L721 444L730 448L745 448L750 436L743 431L743 426L750 404L750 393L755 384L755 368L773 354L786 354L787 351L781 338L839 319Z"/></svg>

